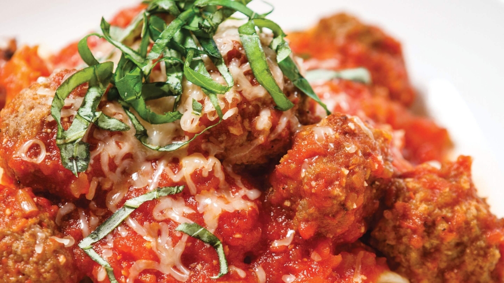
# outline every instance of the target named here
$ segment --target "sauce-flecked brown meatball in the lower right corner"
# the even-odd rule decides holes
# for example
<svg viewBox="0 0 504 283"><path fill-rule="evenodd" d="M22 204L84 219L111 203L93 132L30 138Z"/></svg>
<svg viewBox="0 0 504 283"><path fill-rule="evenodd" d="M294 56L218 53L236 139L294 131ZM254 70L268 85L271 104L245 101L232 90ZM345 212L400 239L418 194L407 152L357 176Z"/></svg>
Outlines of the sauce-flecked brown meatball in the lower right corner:
<svg viewBox="0 0 504 283"><path fill-rule="evenodd" d="M427 165L393 182L389 209L371 243L412 282L495 282L502 220L490 213L471 181L471 158L440 170ZM496 270L495 270L496 272Z"/></svg>

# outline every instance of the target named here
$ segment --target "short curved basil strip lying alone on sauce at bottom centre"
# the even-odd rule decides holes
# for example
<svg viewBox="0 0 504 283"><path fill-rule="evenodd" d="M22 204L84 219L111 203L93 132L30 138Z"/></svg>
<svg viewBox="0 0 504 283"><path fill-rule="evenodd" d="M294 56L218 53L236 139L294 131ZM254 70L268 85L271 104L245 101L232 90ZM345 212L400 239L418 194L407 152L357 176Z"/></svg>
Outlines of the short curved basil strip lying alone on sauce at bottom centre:
<svg viewBox="0 0 504 283"><path fill-rule="evenodd" d="M227 274L228 266L226 255L224 254L224 247L222 246L219 238L215 237L214 234L210 233L210 231L201 227L197 223L182 223L177 228L175 228L175 231L183 232L214 247L215 251L217 252L217 257L219 258L220 269L217 276L211 276L210 278L217 279Z"/></svg>

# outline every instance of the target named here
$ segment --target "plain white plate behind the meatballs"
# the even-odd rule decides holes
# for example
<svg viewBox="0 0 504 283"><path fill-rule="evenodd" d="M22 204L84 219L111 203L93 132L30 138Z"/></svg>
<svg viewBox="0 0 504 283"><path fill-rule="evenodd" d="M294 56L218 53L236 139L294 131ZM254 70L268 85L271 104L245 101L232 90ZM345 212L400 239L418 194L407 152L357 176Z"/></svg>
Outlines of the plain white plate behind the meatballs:
<svg viewBox="0 0 504 283"><path fill-rule="evenodd" d="M258 0L255 0L258 1ZM136 0L11 1L0 10L0 36L55 50L97 28ZM504 216L504 3L497 0L270 0L286 30L347 11L404 46L411 80L429 114L450 130L458 154L474 157L473 177L492 211ZM296 4L298 3L298 4ZM258 4L256 4L258 5ZM255 5L255 6L256 6ZM264 6L262 6L264 8Z"/></svg>

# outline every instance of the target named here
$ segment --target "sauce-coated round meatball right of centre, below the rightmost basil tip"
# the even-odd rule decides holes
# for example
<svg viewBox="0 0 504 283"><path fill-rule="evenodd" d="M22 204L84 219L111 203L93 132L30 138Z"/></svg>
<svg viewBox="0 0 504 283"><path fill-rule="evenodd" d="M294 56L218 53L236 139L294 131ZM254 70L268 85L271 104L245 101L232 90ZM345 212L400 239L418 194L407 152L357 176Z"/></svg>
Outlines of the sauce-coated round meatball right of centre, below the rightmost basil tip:
<svg viewBox="0 0 504 283"><path fill-rule="evenodd" d="M383 180L393 174L390 142L390 133L357 117L330 115L295 135L272 174L268 198L296 211L303 238L319 233L353 242L366 231Z"/></svg>

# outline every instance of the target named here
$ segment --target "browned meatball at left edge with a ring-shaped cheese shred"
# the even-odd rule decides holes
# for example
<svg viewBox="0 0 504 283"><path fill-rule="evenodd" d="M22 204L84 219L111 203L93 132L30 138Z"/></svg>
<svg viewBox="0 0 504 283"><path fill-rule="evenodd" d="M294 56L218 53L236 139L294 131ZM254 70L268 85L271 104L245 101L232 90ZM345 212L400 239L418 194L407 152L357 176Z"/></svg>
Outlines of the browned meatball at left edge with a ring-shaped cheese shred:
<svg viewBox="0 0 504 283"><path fill-rule="evenodd" d="M5 172L22 186L60 193L64 197L78 195L87 183L85 174L77 178L62 166L55 142L56 122L50 115L54 91L70 73L70 70L64 70L33 84L15 96L0 112L0 140L3 141L0 164ZM70 99L84 93L80 87ZM62 120L68 127L70 120Z"/></svg>

